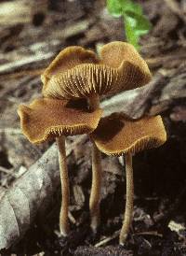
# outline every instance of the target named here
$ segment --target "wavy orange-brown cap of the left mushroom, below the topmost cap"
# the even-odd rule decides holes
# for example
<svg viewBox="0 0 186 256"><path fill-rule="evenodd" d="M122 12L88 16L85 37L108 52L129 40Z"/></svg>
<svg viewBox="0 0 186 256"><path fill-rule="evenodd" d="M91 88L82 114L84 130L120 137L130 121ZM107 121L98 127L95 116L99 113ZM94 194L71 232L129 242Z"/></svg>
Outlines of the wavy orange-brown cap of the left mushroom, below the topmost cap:
<svg viewBox="0 0 186 256"><path fill-rule="evenodd" d="M90 112L81 103L40 98L29 107L20 105L18 113L22 133L32 143L40 143L60 135L91 133L100 121L102 110Z"/></svg>

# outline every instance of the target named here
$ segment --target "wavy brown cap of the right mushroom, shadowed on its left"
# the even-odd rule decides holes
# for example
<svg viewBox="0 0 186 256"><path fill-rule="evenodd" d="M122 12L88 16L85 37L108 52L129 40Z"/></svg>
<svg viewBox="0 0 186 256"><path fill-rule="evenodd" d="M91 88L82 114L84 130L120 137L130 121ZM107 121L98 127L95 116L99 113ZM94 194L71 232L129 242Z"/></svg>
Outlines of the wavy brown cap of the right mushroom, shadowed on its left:
<svg viewBox="0 0 186 256"><path fill-rule="evenodd" d="M101 119L90 136L100 151L116 156L157 148L166 142L166 130L161 116L131 121L113 113Z"/></svg>

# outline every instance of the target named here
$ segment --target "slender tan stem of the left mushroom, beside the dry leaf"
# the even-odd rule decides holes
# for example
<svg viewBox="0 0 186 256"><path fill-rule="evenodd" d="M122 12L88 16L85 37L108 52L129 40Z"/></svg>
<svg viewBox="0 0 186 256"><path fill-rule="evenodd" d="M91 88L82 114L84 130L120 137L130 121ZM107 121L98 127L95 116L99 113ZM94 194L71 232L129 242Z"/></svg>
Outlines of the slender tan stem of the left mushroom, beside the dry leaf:
<svg viewBox="0 0 186 256"><path fill-rule="evenodd" d="M70 190L69 190L69 177L65 151L65 136L56 138L57 145L59 148L59 164L60 164L60 181L61 181L61 194L62 202L60 207L60 234L67 236L69 233L69 201L70 201Z"/></svg>

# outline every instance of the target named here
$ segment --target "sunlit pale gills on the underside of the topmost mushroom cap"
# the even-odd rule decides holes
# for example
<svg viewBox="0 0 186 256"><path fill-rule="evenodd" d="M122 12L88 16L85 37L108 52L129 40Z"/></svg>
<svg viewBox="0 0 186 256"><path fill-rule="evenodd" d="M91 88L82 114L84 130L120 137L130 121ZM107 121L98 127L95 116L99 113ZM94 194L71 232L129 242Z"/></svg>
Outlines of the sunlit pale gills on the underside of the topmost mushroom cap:
<svg viewBox="0 0 186 256"><path fill-rule="evenodd" d="M113 92L121 84L116 68L104 64L79 64L53 76L43 90L45 97L88 98L93 94Z"/></svg>

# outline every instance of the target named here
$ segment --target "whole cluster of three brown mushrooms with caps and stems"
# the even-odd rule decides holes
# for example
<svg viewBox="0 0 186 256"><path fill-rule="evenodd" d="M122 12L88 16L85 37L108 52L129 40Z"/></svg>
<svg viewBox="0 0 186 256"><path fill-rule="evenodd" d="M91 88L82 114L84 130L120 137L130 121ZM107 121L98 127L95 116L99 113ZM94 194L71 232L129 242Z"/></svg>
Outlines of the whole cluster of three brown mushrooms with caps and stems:
<svg viewBox="0 0 186 256"><path fill-rule="evenodd" d="M145 85L152 78L148 65L139 52L125 42L104 45L100 57L91 50L74 46L61 50L41 78L43 97L28 107L20 105L18 113L21 130L32 143L57 140L62 192L60 233L69 233L65 136L88 134L92 141L90 226L94 232L100 223L100 151L126 158L126 211L120 234L123 245L133 214L132 155L164 144L166 131L160 116L134 121L122 113L113 113L101 118L100 95Z"/></svg>

